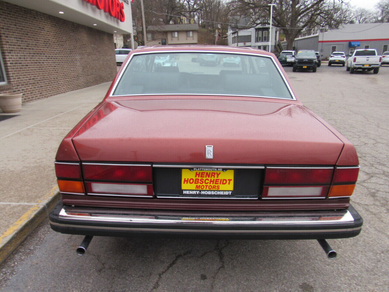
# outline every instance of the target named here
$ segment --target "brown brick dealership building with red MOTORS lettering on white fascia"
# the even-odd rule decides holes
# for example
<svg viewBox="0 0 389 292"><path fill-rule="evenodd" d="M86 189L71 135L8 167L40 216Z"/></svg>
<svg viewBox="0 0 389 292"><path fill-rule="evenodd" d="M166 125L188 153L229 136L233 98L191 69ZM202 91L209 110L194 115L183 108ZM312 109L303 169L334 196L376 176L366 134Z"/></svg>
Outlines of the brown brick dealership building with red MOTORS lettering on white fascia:
<svg viewBox="0 0 389 292"><path fill-rule="evenodd" d="M0 93L23 103L111 81L128 0L0 0Z"/></svg>

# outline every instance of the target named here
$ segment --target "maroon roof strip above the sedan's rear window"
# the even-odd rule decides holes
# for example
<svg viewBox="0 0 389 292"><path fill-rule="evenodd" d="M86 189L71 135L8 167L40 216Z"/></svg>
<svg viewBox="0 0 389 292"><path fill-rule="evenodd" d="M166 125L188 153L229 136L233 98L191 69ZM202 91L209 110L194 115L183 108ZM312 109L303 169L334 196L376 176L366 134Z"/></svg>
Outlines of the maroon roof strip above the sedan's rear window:
<svg viewBox="0 0 389 292"><path fill-rule="evenodd" d="M252 47L230 47L230 46L213 46L213 45L169 45L169 46L146 46L137 48L136 52L158 52L158 51L216 51L231 52L231 53L254 53L261 55L274 56L273 53L268 51L255 49ZM208 52L209 53L209 52Z"/></svg>

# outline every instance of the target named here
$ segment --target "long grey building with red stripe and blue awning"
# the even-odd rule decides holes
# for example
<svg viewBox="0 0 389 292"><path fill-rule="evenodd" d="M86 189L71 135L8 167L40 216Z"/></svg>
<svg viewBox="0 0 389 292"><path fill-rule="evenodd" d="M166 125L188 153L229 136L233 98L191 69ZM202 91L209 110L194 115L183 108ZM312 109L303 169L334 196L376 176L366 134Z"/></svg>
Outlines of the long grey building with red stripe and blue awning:
<svg viewBox="0 0 389 292"><path fill-rule="evenodd" d="M286 47L286 42L282 42ZM296 50L314 49L328 59L334 51L352 54L355 49L376 49L378 55L388 51L389 23L358 23L340 26L326 32L296 38Z"/></svg>

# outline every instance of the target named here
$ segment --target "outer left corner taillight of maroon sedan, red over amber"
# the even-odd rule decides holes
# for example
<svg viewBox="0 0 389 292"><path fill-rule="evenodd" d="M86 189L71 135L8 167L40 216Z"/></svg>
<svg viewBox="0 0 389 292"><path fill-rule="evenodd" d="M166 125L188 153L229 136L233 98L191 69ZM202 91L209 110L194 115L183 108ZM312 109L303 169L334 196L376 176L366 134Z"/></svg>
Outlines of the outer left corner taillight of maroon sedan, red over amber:
<svg viewBox="0 0 389 292"><path fill-rule="evenodd" d="M55 162L55 173L61 193L85 195L79 162Z"/></svg>

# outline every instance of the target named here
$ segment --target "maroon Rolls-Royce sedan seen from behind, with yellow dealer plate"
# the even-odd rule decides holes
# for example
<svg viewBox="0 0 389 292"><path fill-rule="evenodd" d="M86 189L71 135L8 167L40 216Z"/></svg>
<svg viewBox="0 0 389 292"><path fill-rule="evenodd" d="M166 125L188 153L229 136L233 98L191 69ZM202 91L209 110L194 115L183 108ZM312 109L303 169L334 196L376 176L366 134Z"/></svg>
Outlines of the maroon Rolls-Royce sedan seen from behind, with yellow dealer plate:
<svg viewBox="0 0 389 292"><path fill-rule="evenodd" d="M86 235L80 253L91 236L134 234L319 239L331 252L324 239L361 231L358 164L272 53L144 47L61 142L50 223Z"/></svg>

